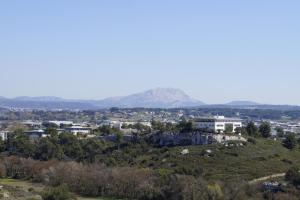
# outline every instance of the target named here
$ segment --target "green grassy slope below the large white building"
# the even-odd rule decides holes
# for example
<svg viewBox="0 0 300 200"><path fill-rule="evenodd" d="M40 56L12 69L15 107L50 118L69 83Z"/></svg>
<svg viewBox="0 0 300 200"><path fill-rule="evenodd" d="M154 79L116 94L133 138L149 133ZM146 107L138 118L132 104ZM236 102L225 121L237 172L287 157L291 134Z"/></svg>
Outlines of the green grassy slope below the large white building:
<svg viewBox="0 0 300 200"><path fill-rule="evenodd" d="M189 149L187 156L180 155L183 149ZM213 157L202 155L204 150L213 151ZM245 180L286 172L292 165L300 166L300 149L290 151L280 141L257 139L257 144L248 143L244 147L225 147L221 145L173 147L168 149L153 148L143 153L130 153L112 156L119 164L150 167L176 171L203 170L209 180ZM128 150L128 151L129 151ZM124 150L126 152L126 149ZM128 154L130 158L128 159ZM291 161L291 162L290 162Z"/></svg>

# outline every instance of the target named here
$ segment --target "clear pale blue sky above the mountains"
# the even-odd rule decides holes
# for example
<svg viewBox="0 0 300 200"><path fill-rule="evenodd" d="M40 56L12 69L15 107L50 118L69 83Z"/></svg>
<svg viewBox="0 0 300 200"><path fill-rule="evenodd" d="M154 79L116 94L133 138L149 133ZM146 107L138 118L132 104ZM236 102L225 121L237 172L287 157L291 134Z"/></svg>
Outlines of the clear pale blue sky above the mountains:
<svg viewBox="0 0 300 200"><path fill-rule="evenodd" d="M299 0L2 0L0 96L156 87L300 105Z"/></svg>

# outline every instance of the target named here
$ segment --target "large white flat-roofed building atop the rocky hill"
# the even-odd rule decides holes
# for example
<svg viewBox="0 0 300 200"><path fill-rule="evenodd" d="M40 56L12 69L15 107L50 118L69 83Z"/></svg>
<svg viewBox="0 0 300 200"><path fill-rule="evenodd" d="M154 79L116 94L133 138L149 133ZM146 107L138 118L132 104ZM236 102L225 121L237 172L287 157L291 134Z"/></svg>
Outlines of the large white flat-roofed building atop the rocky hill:
<svg viewBox="0 0 300 200"><path fill-rule="evenodd" d="M225 130L235 132L237 128L242 127L242 120L236 118L225 118L224 116L215 116L212 118L195 119L196 127L199 129L223 133ZM229 128L227 128L229 127Z"/></svg>

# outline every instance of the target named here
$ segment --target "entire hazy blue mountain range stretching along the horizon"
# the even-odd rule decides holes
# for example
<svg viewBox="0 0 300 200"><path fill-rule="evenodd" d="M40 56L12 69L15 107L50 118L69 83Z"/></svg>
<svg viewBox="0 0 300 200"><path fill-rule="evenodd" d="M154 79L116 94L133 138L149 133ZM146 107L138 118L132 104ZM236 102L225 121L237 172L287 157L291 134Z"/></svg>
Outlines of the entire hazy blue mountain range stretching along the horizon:
<svg viewBox="0 0 300 200"><path fill-rule="evenodd" d="M300 110L299 106L265 105L253 101L232 101L227 104L205 104L174 88L156 88L123 97L111 97L103 100L73 100L60 97L17 97L0 96L0 107L7 109L43 109L43 110L96 110L111 107L120 108L236 108L236 109L272 109Z"/></svg>

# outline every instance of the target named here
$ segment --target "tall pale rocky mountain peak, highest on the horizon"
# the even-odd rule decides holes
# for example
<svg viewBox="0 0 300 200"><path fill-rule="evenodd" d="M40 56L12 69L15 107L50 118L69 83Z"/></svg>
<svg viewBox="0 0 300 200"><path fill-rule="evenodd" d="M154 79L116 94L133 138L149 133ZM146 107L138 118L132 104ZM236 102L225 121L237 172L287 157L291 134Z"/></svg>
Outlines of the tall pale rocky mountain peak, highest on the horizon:
<svg viewBox="0 0 300 200"><path fill-rule="evenodd" d="M99 107L178 108L201 106L204 103L189 97L179 89L156 88L125 97L107 98L98 101L96 105Z"/></svg>

